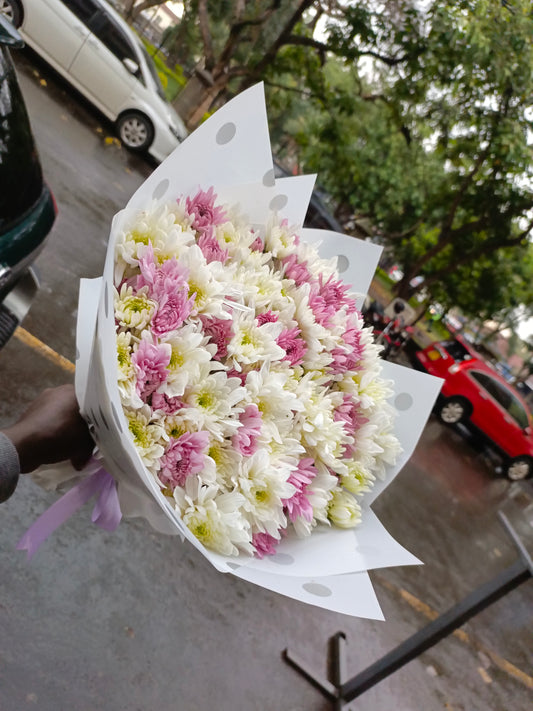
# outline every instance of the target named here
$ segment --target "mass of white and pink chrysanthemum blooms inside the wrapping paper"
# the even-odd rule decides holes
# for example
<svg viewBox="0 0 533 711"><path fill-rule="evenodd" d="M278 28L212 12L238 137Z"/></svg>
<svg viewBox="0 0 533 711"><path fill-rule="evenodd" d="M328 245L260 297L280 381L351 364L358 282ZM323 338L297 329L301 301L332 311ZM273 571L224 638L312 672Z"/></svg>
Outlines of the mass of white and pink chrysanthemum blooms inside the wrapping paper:
<svg viewBox="0 0 533 711"><path fill-rule="evenodd" d="M115 245L118 387L141 459L225 555L356 526L400 450L379 348L334 264L212 187L139 211Z"/></svg>

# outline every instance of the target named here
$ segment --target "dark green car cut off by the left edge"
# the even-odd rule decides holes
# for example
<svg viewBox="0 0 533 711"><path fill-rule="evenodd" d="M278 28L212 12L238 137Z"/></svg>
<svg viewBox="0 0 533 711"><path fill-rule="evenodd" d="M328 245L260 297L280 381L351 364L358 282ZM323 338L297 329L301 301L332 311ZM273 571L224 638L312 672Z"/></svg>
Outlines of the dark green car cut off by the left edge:
<svg viewBox="0 0 533 711"><path fill-rule="evenodd" d="M0 348L38 289L32 263L56 217L9 48L24 45L0 16Z"/></svg>

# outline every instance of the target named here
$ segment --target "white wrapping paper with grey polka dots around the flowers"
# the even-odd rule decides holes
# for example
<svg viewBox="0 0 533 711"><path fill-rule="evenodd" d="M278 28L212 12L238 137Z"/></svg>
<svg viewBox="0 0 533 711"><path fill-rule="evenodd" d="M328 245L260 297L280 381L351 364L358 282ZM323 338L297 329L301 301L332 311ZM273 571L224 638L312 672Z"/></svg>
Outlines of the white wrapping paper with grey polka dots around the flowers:
<svg viewBox="0 0 533 711"><path fill-rule="evenodd" d="M157 531L186 538L216 568L283 595L349 615L382 619L368 570L419 563L385 530L370 505L410 457L425 425L440 381L384 363L394 381L396 434L403 447L397 465L362 498L363 520L354 530L316 530L287 536L275 556L226 558L205 549L189 532L153 477L145 470L129 435L117 387L113 266L116 236L135 212L153 200L194 194L211 185L221 202L238 203L261 229L273 211L302 223L314 176L274 179L264 94L252 87L217 111L154 171L118 213L111 227L103 277L83 280L80 289L76 392L109 473L118 485L124 516L145 518ZM361 306L380 255L369 242L327 230L304 229L302 239L319 245L325 258L338 258L345 283L360 294ZM49 480L67 478L66 470ZM72 474L72 472L71 472ZM45 477L46 478L46 477ZM401 496L401 492L399 492ZM406 525L407 522L406 522Z"/></svg>

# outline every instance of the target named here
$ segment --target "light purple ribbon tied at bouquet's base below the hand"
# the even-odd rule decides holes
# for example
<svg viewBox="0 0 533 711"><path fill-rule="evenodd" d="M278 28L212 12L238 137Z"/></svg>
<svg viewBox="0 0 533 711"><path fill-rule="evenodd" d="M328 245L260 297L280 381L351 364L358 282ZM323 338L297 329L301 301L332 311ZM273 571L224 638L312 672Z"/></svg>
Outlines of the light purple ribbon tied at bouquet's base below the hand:
<svg viewBox="0 0 533 711"><path fill-rule="evenodd" d="M105 531L116 530L122 518L117 485L111 474L100 468L73 486L41 514L17 543L17 550L28 551L30 560L48 536L95 495L98 495L98 498L91 521Z"/></svg>

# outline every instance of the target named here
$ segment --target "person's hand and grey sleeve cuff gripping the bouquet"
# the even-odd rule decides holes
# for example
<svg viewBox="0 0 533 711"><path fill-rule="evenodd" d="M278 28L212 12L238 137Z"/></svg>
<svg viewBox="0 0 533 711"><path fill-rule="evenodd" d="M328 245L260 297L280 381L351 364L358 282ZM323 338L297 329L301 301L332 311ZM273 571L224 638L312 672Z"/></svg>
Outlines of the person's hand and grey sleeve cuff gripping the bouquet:
<svg viewBox="0 0 533 711"><path fill-rule="evenodd" d="M4 435L0 437L0 501L15 490L18 471L24 474L65 459L81 469L94 448L72 385L44 390L17 422L0 433Z"/></svg>

